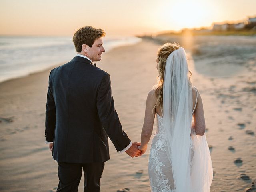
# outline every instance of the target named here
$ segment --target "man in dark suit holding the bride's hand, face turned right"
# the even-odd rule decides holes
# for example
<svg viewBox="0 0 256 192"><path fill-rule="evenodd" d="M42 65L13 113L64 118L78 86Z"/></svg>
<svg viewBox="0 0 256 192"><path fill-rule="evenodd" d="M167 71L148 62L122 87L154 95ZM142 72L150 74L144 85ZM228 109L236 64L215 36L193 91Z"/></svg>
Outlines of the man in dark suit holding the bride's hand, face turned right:
<svg viewBox="0 0 256 192"><path fill-rule="evenodd" d="M77 192L84 170L84 192L100 192L108 136L117 151L139 156L140 143L122 130L111 94L110 75L94 66L105 52L105 32L86 26L73 36L77 55L50 72L45 138L58 162L57 192Z"/></svg>

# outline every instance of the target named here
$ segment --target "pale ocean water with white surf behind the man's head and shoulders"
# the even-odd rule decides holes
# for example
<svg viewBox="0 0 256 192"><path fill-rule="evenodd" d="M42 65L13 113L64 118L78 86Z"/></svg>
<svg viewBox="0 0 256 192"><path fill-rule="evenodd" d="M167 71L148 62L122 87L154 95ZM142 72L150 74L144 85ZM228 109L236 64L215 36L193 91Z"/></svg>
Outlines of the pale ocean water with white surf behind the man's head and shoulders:
<svg viewBox="0 0 256 192"><path fill-rule="evenodd" d="M107 52L140 41L134 36L112 36L103 39L103 46ZM46 70L75 55L72 37L0 36L0 82Z"/></svg>

